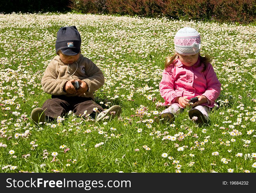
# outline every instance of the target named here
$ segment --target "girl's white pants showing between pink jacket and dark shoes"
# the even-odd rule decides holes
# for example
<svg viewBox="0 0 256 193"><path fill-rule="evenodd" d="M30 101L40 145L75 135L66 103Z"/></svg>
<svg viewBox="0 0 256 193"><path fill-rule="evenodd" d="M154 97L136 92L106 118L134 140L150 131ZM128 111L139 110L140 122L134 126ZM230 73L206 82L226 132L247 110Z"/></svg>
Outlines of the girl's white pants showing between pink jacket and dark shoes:
<svg viewBox="0 0 256 193"><path fill-rule="evenodd" d="M195 107L193 107L194 109L197 109L199 111L201 111L201 113L204 115L204 117L209 120L209 107L205 106L205 105L197 105ZM179 113L182 112L182 108L180 108L177 104L172 104L170 105L170 107L168 107L167 109L163 110L160 114L163 113L172 113L173 115L177 115Z"/></svg>

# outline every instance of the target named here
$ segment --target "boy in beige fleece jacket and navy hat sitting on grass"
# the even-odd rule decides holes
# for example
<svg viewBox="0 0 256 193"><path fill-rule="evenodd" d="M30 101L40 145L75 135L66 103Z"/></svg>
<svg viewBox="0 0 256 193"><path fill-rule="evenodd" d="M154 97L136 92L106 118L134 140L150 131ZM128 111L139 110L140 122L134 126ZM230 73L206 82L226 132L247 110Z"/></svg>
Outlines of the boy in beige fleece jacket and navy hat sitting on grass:
<svg viewBox="0 0 256 193"><path fill-rule="evenodd" d="M75 26L58 30L57 56L47 66L41 80L43 90L51 94L51 99L46 100L42 108L32 110L31 119L35 124L55 120L70 110L78 116L90 114L96 121L106 116L120 116L120 106L114 105L104 111L94 102L93 92L104 84L104 75L81 54L80 47L81 36ZM100 113L96 116L95 111Z"/></svg>

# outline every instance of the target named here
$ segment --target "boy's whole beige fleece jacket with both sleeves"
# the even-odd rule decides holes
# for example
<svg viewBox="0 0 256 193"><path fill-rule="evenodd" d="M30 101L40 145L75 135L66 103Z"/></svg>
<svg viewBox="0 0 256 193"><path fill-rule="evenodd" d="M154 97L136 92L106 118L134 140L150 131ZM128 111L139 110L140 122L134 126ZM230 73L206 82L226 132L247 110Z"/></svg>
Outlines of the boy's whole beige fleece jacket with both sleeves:
<svg viewBox="0 0 256 193"><path fill-rule="evenodd" d="M93 92L104 84L102 71L87 57L80 54L78 60L72 64L65 64L59 56L47 66L41 80L43 90L51 95L76 96L63 91L64 84L69 80L80 79L88 84L88 91L83 97L94 100Z"/></svg>

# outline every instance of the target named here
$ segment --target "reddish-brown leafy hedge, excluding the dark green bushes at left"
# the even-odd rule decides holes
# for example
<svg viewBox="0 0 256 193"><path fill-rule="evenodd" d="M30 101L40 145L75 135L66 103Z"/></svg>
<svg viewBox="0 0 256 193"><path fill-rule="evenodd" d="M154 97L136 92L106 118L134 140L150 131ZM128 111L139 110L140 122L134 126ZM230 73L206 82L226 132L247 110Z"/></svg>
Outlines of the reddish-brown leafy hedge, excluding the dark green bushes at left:
<svg viewBox="0 0 256 193"><path fill-rule="evenodd" d="M81 13L164 15L174 19L250 23L256 20L256 0L70 0Z"/></svg>

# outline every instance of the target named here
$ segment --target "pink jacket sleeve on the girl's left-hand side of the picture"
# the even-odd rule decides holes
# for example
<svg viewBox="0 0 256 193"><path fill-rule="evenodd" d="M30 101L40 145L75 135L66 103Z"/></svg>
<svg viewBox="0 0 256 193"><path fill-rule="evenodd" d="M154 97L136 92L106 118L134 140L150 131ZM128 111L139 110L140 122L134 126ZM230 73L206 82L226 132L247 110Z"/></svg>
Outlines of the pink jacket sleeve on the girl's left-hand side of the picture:
<svg viewBox="0 0 256 193"><path fill-rule="evenodd" d="M159 91L163 99L172 104L174 103L177 97L181 97L182 95L178 95L174 90L174 77L171 69L173 66L170 66L166 70L163 70L162 80L159 83Z"/></svg>

